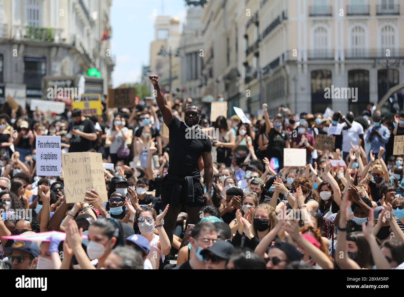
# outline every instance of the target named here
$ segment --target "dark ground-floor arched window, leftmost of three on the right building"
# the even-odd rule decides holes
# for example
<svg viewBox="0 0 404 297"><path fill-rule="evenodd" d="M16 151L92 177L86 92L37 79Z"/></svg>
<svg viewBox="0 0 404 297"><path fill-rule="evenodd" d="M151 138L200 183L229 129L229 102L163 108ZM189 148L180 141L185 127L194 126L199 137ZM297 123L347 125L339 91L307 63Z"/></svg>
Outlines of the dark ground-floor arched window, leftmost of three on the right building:
<svg viewBox="0 0 404 297"><path fill-rule="evenodd" d="M311 113L324 113L331 107L332 99L325 98L325 88L331 88L332 73L329 70L315 70L311 72Z"/></svg>

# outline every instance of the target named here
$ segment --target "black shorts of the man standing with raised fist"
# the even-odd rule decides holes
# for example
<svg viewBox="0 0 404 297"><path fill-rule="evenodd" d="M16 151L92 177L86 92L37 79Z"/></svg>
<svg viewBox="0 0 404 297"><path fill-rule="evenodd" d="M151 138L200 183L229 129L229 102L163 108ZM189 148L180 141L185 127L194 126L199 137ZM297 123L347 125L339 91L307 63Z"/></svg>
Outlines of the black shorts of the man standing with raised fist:
<svg viewBox="0 0 404 297"><path fill-rule="evenodd" d="M171 192L173 191L175 181L169 179L163 179L161 181L161 202L162 209L166 207L167 204L173 204L171 201ZM188 202L185 200L185 186L181 189L181 197L179 198L179 203L189 207L202 207L204 206L202 195L204 194L202 185L200 181L194 179L194 202Z"/></svg>

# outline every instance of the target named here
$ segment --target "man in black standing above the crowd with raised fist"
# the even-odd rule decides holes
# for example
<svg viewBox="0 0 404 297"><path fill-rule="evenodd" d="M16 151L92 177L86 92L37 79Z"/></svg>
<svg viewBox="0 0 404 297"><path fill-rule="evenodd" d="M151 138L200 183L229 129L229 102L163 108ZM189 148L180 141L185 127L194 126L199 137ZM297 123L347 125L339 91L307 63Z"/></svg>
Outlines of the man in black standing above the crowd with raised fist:
<svg viewBox="0 0 404 297"><path fill-rule="evenodd" d="M185 123L181 122L171 114L167 106L158 85L158 75L149 76L149 79L157 92L156 100L164 124L169 129L170 159L168 172L161 181L160 196L163 208L170 204L164 217L164 229L170 242L173 242L173 230L181 205L185 206L189 223L196 224L199 221L201 207L210 202L213 179L212 143L209 137L198 128L202 118L200 106L194 103L187 105L184 113ZM187 133L189 129L195 129L195 133ZM186 135L200 135L200 137L186 137ZM205 194L200 183L201 156L204 163Z"/></svg>

